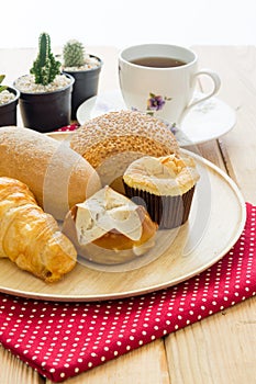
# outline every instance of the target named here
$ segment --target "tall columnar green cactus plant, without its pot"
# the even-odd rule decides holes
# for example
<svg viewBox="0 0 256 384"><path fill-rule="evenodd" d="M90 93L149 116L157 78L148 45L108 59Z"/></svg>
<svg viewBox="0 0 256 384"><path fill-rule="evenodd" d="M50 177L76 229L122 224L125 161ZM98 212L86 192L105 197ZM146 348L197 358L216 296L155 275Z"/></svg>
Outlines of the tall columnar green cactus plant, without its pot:
<svg viewBox="0 0 256 384"><path fill-rule="evenodd" d="M51 50L51 38L47 33L40 35L38 50L38 55L31 68L31 74L35 76L37 84L47 86L60 74L60 63L54 58Z"/></svg>

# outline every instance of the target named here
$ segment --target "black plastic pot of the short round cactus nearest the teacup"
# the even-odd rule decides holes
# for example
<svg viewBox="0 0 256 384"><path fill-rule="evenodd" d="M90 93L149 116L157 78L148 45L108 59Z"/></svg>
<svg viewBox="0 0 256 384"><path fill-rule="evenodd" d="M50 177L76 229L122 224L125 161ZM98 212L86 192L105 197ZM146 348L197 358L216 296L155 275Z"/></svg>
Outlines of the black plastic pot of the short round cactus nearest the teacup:
<svg viewBox="0 0 256 384"><path fill-rule="evenodd" d="M76 120L77 109L87 99L92 98L98 93L99 76L103 61L93 55L100 61L100 65L92 69L70 71L63 70L64 74L71 75L75 78L75 84L71 95L71 120Z"/></svg>

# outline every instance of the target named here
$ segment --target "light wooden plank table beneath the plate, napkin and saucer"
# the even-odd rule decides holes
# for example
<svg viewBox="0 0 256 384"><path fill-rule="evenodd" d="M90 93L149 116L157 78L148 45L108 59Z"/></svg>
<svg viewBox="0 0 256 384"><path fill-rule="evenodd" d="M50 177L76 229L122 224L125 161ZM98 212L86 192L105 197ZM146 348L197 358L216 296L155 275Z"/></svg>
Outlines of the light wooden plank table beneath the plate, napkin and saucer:
<svg viewBox="0 0 256 384"><path fill-rule="evenodd" d="M235 127L218 140L199 145L201 155L238 184L244 199L256 204L256 47L197 46L200 67L219 72L219 98L237 112ZM103 70L100 91L118 88L118 49L94 47ZM10 81L27 72L33 49L0 49L0 72ZM205 80L207 81L207 80ZM208 88L204 79L199 87ZM0 384L47 383L43 377L0 348ZM256 383L256 297L114 361L80 374L68 384L241 384Z"/></svg>

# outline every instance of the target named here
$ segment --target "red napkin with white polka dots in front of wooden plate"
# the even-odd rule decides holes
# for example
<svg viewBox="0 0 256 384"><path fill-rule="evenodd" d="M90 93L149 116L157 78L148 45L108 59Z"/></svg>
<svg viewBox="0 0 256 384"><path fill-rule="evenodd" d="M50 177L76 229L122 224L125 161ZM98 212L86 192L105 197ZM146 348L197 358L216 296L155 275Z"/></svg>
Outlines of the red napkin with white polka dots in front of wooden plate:
<svg viewBox="0 0 256 384"><path fill-rule="evenodd" d="M53 303L0 294L2 346L62 382L201 320L256 292L256 206L229 253L164 291L97 303Z"/></svg>

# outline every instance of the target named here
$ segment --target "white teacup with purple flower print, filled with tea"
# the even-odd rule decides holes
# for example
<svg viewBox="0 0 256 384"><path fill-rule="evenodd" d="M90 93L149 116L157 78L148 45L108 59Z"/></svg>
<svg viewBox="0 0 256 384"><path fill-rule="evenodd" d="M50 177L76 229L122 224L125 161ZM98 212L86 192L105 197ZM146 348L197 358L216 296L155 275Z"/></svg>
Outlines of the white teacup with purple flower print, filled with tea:
<svg viewBox="0 0 256 384"><path fill-rule="evenodd" d="M192 101L200 75L212 79L213 89ZM143 44L123 49L119 55L119 79L129 109L176 124L192 106L215 94L221 86L215 72L198 70L194 52L168 44Z"/></svg>

